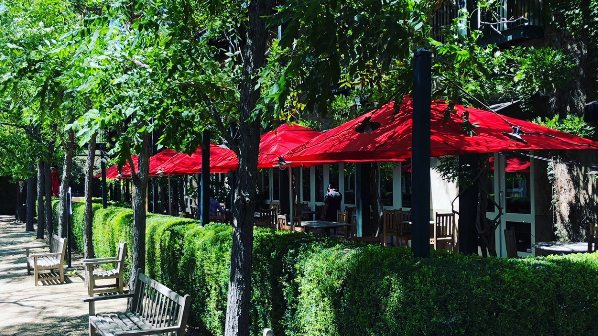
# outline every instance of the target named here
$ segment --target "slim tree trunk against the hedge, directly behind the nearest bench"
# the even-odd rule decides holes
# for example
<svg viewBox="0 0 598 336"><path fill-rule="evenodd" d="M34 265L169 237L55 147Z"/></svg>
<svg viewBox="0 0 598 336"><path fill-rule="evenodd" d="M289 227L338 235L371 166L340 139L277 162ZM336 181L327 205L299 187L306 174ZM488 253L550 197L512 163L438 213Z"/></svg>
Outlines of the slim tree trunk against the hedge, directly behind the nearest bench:
<svg viewBox="0 0 598 336"><path fill-rule="evenodd" d="M137 271L145 272L145 227L146 227L146 193L147 182L149 181L149 153L150 153L150 135L145 134L142 139L141 153L138 156L138 171L131 169L131 178L135 190L133 192L133 247L131 262L131 279L129 288L131 292L135 291L135 279ZM132 160L130 167L134 167Z"/></svg>

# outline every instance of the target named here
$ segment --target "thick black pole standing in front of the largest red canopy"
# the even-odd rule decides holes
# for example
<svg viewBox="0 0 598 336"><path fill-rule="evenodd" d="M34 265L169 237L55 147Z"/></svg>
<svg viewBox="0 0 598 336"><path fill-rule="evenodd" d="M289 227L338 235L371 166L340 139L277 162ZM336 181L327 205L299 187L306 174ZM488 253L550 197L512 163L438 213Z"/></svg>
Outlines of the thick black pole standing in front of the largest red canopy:
<svg viewBox="0 0 598 336"><path fill-rule="evenodd" d="M432 104L432 52L420 49L413 62L413 135L411 250L416 257L430 256L430 109Z"/></svg>

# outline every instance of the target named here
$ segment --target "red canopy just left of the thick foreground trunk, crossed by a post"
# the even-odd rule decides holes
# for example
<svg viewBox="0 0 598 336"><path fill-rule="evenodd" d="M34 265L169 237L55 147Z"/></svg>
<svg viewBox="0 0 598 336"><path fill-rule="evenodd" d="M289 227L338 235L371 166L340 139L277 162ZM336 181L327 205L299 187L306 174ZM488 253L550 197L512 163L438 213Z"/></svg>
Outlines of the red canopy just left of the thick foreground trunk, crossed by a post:
<svg viewBox="0 0 598 336"><path fill-rule="evenodd" d="M210 144L210 172L227 173L237 169L237 155L228 148ZM156 167L156 173L164 175L182 175L201 173L201 147L195 153L180 153Z"/></svg>

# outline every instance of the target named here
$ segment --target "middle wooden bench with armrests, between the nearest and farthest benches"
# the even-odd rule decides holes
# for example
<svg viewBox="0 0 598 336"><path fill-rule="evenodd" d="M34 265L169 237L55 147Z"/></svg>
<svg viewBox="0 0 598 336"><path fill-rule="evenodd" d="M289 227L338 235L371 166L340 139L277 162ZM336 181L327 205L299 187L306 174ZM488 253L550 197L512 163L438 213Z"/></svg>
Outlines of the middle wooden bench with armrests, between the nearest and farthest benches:
<svg viewBox="0 0 598 336"><path fill-rule="evenodd" d="M118 253L116 257L83 259L85 266L85 285L87 294L93 296L94 293L123 293L125 256L127 254L127 243L118 244ZM110 270L94 269L96 265L114 264ZM114 280L114 283L97 284L98 280Z"/></svg>

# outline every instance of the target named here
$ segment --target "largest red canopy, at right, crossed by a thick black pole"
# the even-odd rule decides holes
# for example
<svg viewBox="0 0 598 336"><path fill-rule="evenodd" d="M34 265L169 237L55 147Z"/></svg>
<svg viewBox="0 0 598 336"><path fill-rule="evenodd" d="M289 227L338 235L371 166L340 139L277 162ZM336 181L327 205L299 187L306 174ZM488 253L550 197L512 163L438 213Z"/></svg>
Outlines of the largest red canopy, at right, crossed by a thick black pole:
<svg viewBox="0 0 598 336"><path fill-rule="evenodd" d="M531 122L501 116L494 112L455 106L455 111L445 121L448 105L442 101L432 103L430 156L466 153L492 153L533 149L597 149L598 142L556 131ZM336 127L309 142L293 149L285 160L293 162L367 162L400 161L411 157L413 105L406 97L399 112L394 113L394 103L368 112ZM476 125L475 134L463 131L464 117ZM380 123L370 133L358 133L355 128L364 119ZM506 134L520 127L522 141Z"/></svg>

